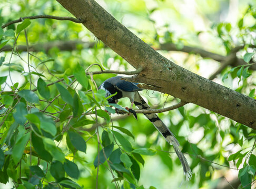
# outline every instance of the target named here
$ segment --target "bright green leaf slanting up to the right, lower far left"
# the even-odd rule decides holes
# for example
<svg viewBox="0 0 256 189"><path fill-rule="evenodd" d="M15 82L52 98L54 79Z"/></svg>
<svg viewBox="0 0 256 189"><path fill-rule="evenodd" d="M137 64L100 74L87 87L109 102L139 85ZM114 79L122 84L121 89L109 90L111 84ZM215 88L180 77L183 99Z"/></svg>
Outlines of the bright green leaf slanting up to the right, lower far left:
<svg viewBox="0 0 256 189"><path fill-rule="evenodd" d="M19 139L16 144L13 146L12 157L13 161L17 164L19 160L21 160L22 155L24 153L25 145L29 139L29 133L26 133Z"/></svg>

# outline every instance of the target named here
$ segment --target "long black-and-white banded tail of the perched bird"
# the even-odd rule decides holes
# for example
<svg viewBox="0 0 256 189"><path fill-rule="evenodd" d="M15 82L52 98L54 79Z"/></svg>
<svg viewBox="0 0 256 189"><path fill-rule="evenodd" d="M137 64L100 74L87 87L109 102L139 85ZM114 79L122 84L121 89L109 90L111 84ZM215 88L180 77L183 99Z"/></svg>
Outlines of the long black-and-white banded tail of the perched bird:
<svg viewBox="0 0 256 189"><path fill-rule="evenodd" d="M139 108L139 109L150 109L149 104L145 102L145 100L140 96L139 92L136 92L135 98L134 98L134 104ZM191 180L192 177L192 172L190 170L189 164L186 161L185 156L181 152L179 148L179 142L178 140L174 137L174 134L170 131L168 127L162 122L162 120L155 114L155 113L144 113L144 115L149 119L155 128L159 130L159 132L163 135L165 140L173 145L174 151L176 152L178 158L180 159L180 162L183 167L184 175L186 177L186 180Z"/></svg>

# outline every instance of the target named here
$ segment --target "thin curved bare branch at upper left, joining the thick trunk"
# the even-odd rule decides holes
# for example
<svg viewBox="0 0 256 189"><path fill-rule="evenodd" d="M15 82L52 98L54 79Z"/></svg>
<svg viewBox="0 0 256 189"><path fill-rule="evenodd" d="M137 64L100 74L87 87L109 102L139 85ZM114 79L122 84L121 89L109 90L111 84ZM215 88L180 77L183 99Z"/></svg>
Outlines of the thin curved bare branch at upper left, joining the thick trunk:
<svg viewBox="0 0 256 189"><path fill-rule="evenodd" d="M25 16L25 17L20 17L19 19L16 20L12 20L11 22L8 22L6 24L4 24L2 27L2 29L4 29L5 27L11 25L11 24L15 24L15 23L19 23L22 22L24 19L37 19L37 18L51 18L51 19L56 19L56 20L70 20L72 22L75 23L83 23L83 20L81 18L72 18L72 17L62 17L62 16L52 16L52 15L36 15L36 16Z"/></svg>

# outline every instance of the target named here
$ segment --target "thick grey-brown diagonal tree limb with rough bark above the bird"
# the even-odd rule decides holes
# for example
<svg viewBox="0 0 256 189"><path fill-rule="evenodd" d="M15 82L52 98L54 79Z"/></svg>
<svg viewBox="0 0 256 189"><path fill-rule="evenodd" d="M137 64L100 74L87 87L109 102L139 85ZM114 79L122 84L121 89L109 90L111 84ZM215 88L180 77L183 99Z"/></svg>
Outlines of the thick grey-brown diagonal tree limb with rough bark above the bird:
<svg viewBox="0 0 256 189"><path fill-rule="evenodd" d="M57 0L98 39L143 71L133 81L256 129L256 101L186 70L157 53L94 0Z"/></svg>

